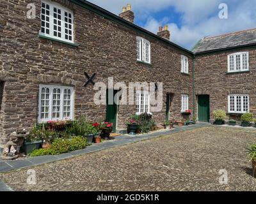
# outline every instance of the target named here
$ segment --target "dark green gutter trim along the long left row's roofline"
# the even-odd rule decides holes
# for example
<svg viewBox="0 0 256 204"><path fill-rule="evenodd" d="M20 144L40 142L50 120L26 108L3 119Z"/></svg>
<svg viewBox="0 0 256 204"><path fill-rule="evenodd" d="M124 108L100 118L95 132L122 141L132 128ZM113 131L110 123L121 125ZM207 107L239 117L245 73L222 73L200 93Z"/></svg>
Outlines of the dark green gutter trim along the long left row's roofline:
<svg viewBox="0 0 256 204"><path fill-rule="evenodd" d="M191 56L193 55L193 52L191 52L190 50L180 47L179 45L172 43L169 40L165 40L164 38L161 38L161 37L157 36L156 34L151 33L150 31L147 31L146 29L143 29L142 27L139 27L138 25L132 24L132 23L128 22L127 20L124 20L123 18L118 17L117 15L115 15L107 10L104 10L103 8L100 8L99 6L97 6L95 4L92 4L88 1L83 1L83 0L69 0L69 1L81 6L83 8L86 8L87 10L90 10L93 13L97 13L98 15L101 15L104 18L108 18L109 20L111 20L113 22L124 25L125 27L128 27L129 29L136 31L137 33L141 33L145 36L148 36L149 38L153 38L154 40L158 40L158 41L161 41L168 45L172 45L172 47L175 47L178 50L183 50L184 52L188 53Z"/></svg>

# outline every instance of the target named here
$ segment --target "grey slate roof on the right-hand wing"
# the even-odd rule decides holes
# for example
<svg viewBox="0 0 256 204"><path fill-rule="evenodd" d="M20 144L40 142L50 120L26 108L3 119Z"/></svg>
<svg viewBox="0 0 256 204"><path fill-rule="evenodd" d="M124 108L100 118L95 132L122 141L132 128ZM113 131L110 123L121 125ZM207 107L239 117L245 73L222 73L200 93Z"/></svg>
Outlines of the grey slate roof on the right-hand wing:
<svg viewBox="0 0 256 204"><path fill-rule="evenodd" d="M251 45L256 43L256 29L223 34L221 36L206 37L200 40L192 49L194 53L207 52L222 48Z"/></svg>

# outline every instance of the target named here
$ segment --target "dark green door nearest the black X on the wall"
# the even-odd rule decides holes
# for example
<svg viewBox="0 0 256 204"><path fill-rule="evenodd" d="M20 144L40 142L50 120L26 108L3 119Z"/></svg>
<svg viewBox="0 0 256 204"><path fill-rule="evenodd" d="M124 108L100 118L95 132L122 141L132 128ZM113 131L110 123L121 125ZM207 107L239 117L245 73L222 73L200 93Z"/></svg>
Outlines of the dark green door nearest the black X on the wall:
<svg viewBox="0 0 256 204"><path fill-rule="evenodd" d="M113 96L110 96L113 101L109 100L109 96L108 96L108 90L107 90L107 95L106 95L106 99L107 99L107 110L106 110L106 122L113 122L113 132L116 132L116 115L117 115L117 105L115 104L114 101L114 97L116 94L116 90L113 91ZM112 94L111 94L112 95Z"/></svg>

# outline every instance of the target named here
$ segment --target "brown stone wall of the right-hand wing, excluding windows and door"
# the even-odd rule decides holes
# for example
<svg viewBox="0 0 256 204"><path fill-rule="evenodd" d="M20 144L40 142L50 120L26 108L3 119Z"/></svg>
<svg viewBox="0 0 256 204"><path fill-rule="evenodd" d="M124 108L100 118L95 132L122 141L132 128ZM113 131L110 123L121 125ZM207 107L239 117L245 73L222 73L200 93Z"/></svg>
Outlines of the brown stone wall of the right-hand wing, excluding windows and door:
<svg viewBox="0 0 256 204"><path fill-rule="evenodd" d="M236 52L249 52L249 72L227 73L228 55ZM211 119L212 112L216 109L228 112L228 94L250 94L250 112L256 115L255 54L255 48L248 48L196 57L195 94L207 94L210 96ZM240 116L230 115L230 118L239 119Z"/></svg>

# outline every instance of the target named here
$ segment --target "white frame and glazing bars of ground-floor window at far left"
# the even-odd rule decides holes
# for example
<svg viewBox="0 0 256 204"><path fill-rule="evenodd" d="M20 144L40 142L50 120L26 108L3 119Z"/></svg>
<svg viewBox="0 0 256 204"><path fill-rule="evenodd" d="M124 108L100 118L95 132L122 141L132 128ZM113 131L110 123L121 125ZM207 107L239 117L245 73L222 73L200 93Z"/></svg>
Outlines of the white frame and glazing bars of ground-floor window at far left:
<svg viewBox="0 0 256 204"><path fill-rule="evenodd" d="M42 101L42 88L49 88L49 115L47 119L41 119L41 101ZM53 89L58 88L61 89L61 97L60 97L60 118L52 118L52 95ZM70 89L70 117L63 118L63 96L64 90ZM74 119L74 87L67 87L61 85L39 85L39 97L38 97L38 122L47 122L49 120L72 120Z"/></svg>

